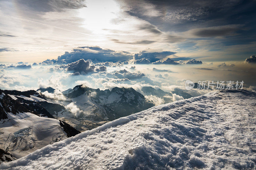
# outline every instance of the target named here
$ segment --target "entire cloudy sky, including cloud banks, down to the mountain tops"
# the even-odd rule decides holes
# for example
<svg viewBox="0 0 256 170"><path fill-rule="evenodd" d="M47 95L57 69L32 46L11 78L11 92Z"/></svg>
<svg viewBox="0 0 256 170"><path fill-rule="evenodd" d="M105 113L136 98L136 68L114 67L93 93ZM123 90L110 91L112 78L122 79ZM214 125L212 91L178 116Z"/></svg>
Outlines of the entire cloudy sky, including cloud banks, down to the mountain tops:
<svg viewBox="0 0 256 170"><path fill-rule="evenodd" d="M60 91L244 81L256 1L0 0L0 88ZM208 91L190 91L192 95Z"/></svg>

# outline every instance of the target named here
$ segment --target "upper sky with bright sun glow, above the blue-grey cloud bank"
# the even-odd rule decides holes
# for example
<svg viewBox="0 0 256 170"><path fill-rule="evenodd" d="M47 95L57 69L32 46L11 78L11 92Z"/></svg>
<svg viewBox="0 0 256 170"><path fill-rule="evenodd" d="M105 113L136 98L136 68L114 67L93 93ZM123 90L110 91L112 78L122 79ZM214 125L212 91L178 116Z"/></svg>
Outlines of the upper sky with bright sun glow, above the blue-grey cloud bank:
<svg viewBox="0 0 256 170"><path fill-rule="evenodd" d="M1 0L0 62L42 62L80 46L243 61L255 55L255 1Z"/></svg>

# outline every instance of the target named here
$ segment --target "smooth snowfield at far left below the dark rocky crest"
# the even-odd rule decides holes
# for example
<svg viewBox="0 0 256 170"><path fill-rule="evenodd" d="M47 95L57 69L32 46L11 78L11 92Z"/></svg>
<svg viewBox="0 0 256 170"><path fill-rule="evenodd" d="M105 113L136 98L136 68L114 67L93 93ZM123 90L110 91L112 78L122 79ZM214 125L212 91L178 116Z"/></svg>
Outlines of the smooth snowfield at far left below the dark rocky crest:
<svg viewBox="0 0 256 170"><path fill-rule="evenodd" d="M67 139L59 120L31 113L8 113L8 119L1 121L0 132L0 147L7 149L16 158Z"/></svg>

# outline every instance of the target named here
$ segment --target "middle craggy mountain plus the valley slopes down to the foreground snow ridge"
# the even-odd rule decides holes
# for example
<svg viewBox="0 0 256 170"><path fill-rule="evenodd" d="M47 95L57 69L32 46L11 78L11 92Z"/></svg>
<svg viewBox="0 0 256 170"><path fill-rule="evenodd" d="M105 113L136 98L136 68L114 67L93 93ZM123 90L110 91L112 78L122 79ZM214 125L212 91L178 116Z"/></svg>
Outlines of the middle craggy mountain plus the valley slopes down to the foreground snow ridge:
<svg viewBox="0 0 256 170"><path fill-rule="evenodd" d="M110 91L77 85L62 94L64 101L52 102L65 108L52 115L68 122L79 131L91 130L106 122L155 106L133 88L114 87Z"/></svg>

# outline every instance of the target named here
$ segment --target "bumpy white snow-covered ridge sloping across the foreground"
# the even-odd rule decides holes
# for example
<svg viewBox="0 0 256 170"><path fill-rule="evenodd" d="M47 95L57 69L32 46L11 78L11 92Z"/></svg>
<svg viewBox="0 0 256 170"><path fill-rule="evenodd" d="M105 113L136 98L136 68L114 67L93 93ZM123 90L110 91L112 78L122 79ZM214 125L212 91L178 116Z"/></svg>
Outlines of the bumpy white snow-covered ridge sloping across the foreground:
<svg viewBox="0 0 256 170"><path fill-rule="evenodd" d="M256 93L159 105L47 145L0 169L255 169Z"/></svg>

